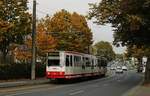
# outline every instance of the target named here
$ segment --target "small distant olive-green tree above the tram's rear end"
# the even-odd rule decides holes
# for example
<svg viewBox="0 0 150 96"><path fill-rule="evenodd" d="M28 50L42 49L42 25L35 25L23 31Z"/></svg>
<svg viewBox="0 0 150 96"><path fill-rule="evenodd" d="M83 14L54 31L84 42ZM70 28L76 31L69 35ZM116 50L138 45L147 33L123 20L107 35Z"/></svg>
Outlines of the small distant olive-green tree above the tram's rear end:
<svg viewBox="0 0 150 96"><path fill-rule="evenodd" d="M94 45L96 56L105 57L108 61L115 59L115 52L109 42L100 41Z"/></svg>

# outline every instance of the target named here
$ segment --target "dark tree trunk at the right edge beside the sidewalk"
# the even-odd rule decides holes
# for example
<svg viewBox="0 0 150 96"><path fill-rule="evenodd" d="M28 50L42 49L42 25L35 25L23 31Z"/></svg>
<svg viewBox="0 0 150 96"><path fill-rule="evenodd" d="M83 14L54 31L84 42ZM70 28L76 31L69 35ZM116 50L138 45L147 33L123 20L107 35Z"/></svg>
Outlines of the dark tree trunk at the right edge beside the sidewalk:
<svg viewBox="0 0 150 96"><path fill-rule="evenodd" d="M150 83L150 56L147 58L144 83Z"/></svg>

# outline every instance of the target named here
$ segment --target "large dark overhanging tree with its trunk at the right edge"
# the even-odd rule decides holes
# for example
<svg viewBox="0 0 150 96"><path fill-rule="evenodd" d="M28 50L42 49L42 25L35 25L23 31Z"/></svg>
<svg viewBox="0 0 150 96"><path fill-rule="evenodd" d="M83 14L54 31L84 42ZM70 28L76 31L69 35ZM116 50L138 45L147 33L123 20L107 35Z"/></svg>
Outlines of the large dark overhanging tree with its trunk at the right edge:
<svg viewBox="0 0 150 96"><path fill-rule="evenodd" d="M89 17L96 23L111 23L114 28L114 44L137 47L150 46L149 0L102 0L90 4ZM145 72L145 82L150 83L150 55Z"/></svg>

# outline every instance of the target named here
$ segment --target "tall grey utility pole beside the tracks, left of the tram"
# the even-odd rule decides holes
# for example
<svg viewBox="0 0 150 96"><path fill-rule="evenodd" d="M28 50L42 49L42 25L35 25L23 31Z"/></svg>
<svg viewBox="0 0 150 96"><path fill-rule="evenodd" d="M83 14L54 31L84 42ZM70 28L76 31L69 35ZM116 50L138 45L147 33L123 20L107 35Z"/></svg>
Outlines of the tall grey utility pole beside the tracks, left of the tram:
<svg viewBox="0 0 150 96"><path fill-rule="evenodd" d="M36 64L36 0L33 0L31 80L35 79Z"/></svg>

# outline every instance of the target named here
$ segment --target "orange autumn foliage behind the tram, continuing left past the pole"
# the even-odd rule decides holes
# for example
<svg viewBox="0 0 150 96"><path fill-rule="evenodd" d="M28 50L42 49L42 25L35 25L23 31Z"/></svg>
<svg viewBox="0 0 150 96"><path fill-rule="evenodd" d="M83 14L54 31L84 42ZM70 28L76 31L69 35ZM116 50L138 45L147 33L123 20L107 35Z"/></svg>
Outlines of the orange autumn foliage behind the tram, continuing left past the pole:
<svg viewBox="0 0 150 96"><path fill-rule="evenodd" d="M91 44L92 33L86 19L76 12L71 14L66 10L61 10L52 17L46 16L37 22L37 56L54 50L88 53ZM22 59L31 58L31 36L27 36L26 46L28 52L18 50L17 56L20 54Z"/></svg>

